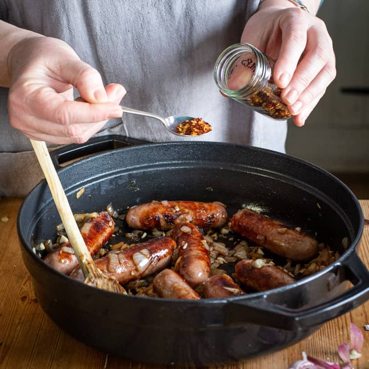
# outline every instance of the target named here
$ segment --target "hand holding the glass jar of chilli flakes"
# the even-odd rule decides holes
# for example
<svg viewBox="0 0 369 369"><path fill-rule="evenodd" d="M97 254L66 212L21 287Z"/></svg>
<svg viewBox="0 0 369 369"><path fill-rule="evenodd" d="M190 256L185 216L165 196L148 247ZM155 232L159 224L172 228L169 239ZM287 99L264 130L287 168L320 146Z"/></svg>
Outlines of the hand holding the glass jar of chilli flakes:
<svg viewBox="0 0 369 369"><path fill-rule="evenodd" d="M336 76L332 39L316 16L270 4L265 0L249 19L241 42L276 60L274 81L296 126L303 126Z"/></svg>

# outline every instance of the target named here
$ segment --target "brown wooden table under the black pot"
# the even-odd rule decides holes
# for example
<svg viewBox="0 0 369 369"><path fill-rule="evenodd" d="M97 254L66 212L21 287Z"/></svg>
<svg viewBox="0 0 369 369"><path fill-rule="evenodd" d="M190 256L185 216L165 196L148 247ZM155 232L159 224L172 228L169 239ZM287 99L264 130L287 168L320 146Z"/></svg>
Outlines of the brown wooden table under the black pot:
<svg viewBox="0 0 369 369"><path fill-rule="evenodd" d="M21 203L21 198L0 200L0 368L155 368L100 353L58 329L43 312L20 255L16 216ZM369 200L362 200L361 206L369 218ZM4 216L9 220L1 221ZM369 267L369 227L364 228L360 256ZM350 342L350 322L364 334L363 355L353 364L356 369L369 368L369 332L363 329L369 324L368 312L369 301L285 350L224 368L287 369L288 364L301 358L302 351L338 361L338 344Z"/></svg>

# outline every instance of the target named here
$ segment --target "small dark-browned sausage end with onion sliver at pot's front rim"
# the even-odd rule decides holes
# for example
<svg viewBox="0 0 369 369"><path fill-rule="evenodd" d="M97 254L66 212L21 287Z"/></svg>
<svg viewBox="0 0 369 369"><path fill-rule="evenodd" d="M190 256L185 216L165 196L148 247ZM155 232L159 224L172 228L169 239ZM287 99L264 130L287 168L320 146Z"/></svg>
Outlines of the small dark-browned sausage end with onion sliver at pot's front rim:
<svg viewBox="0 0 369 369"><path fill-rule="evenodd" d="M226 298L244 294L245 293L227 274L212 276L203 286L203 295L206 298Z"/></svg>

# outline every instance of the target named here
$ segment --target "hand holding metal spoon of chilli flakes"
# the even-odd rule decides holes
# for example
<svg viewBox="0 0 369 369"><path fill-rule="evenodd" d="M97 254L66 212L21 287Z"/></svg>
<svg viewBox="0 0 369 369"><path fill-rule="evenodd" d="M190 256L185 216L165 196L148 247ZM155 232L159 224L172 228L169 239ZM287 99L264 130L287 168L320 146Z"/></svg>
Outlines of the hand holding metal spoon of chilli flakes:
<svg viewBox="0 0 369 369"><path fill-rule="evenodd" d="M100 74L59 39L20 41L9 52L8 70L10 124L29 138L80 144L122 115L125 88L104 87ZM84 101L73 100L73 87Z"/></svg>

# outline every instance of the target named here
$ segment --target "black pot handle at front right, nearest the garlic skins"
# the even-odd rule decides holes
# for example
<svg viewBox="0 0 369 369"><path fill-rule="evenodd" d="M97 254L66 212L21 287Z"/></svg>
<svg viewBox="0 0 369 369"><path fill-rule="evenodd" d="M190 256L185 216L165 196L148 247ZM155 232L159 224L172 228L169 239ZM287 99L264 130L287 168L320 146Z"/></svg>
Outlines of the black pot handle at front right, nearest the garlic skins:
<svg viewBox="0 0 369 369"><path fill-rule="evenodd" d="M227 323L244 323L247 319L248 322L289 331L304 330L357 308L369 298L369 271L356 252L336 268L343 268L345 280L353 283L353 287L341 295L305 309L289 309L271 303L265 299L267 295L251 303L234 301L227 304Z"/></svg>

